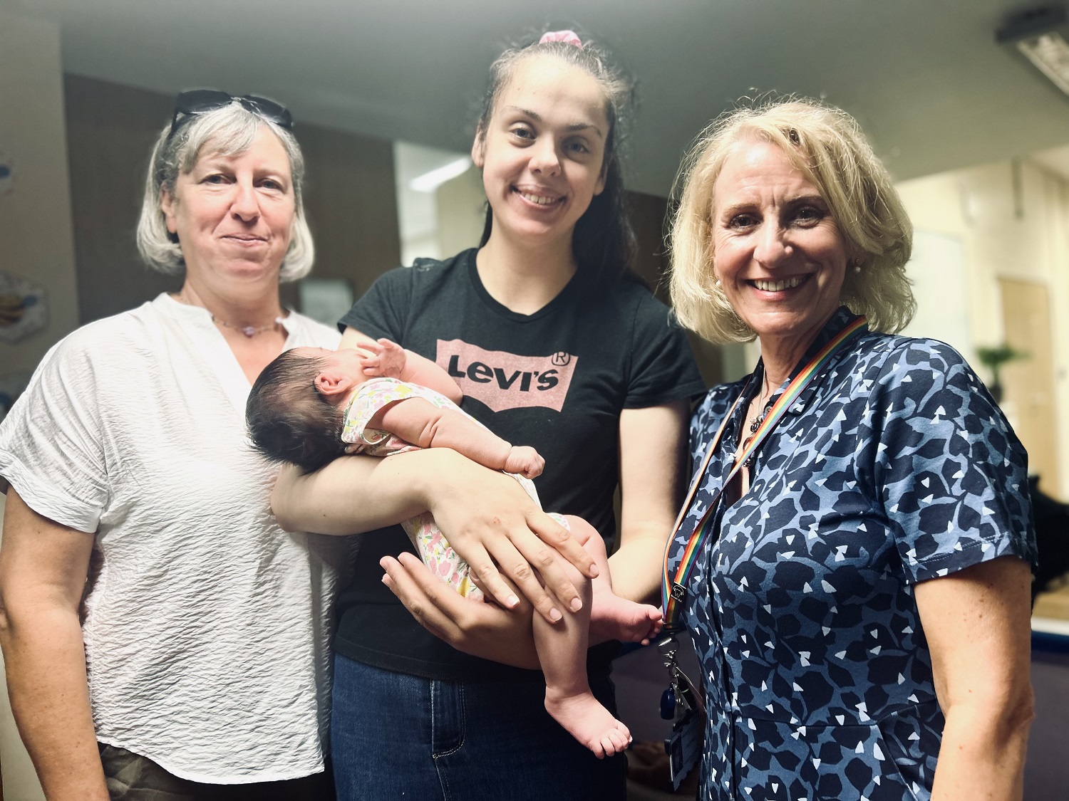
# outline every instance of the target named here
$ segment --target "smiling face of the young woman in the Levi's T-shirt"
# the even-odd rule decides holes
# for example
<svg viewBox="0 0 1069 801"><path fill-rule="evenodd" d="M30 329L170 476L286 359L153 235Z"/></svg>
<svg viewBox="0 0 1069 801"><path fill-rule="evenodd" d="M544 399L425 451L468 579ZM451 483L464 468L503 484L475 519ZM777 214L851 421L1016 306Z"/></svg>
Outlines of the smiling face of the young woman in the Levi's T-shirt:
<svg viewBox="0 0 1069 801"><path fill-rule="evenodd" d="M591 76L553 56L521 61L471 148L494 214L492 236L570 242L605 188L607 136L605 96Z"/></svg>

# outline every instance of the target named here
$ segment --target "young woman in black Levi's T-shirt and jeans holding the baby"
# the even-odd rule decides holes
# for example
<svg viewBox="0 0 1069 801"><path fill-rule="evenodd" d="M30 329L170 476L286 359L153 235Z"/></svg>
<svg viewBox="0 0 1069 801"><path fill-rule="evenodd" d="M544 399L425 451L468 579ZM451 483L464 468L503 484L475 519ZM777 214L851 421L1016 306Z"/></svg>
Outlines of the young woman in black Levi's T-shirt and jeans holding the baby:
<svg viewBox="0 0 1069 801"><path fill-rule="evenodd" d="M623 798L622 755L599 761L546 712L528 603L555 625L572 614L576 590L545 543L587 575L591 562L545 513L584 518L611 541L618 484L614 590L653 596L687 399L702 390L667 309L625 269L628 97L604 56L570 32L507 51L472 145L489 200L480 248L387 273L342 320L343 346L385 336L436 362L465 411L534 446L545 470L542 508L512 477L446 449L283 470L273 505L284 525L373 531L430 511L497 601L439 582L399 529L363 537L336 638L341 798ZM610 711L614 650L588 659Z"/></svg>

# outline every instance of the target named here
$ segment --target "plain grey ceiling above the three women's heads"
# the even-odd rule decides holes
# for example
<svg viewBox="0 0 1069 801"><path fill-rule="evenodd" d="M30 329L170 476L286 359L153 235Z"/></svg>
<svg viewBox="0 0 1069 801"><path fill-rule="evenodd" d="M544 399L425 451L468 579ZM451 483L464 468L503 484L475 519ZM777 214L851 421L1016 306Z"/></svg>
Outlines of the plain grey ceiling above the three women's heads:
<svg viewBox="0 0 1069 801"><path fill-rule="evenodd" d="M665 194L742 96L824 97L896 178L1069 143L1069 98L994 31L1016 0L0 0L61 25L66 72L167 93L220 87L298 121L468 150L509 37L597 32L638 79L629 184ZM298 129L299 136L299 129Z"/></svg>

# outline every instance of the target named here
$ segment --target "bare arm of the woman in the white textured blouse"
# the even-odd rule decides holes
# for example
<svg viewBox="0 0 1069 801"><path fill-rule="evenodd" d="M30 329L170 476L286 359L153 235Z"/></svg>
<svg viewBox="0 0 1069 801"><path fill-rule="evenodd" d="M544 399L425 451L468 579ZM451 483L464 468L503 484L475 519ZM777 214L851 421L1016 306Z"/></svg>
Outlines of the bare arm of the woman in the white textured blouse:
<svg viewBox="0 0 1069 801"><path fill-rule="evenodd" d="M0 547L0 645L19 735L49 801L107 801L78 604L93 535L7 490Z"/></svg>

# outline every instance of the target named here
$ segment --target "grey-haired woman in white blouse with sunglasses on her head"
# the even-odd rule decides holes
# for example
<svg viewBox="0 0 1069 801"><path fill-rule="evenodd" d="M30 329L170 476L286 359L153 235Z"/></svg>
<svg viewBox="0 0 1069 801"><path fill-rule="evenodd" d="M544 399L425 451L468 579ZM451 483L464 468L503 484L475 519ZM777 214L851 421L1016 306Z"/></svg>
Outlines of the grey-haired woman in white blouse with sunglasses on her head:
<svg viewBox="0 0 1069 801"><path fill-rule="evenodd" d="M285 533L252 380L336 330L285 312L313 249L290 113L179 95L138 246L182 288L56 345L0 426L0 644L49 799L332 798L328 610L345 541Z"/></svg>

